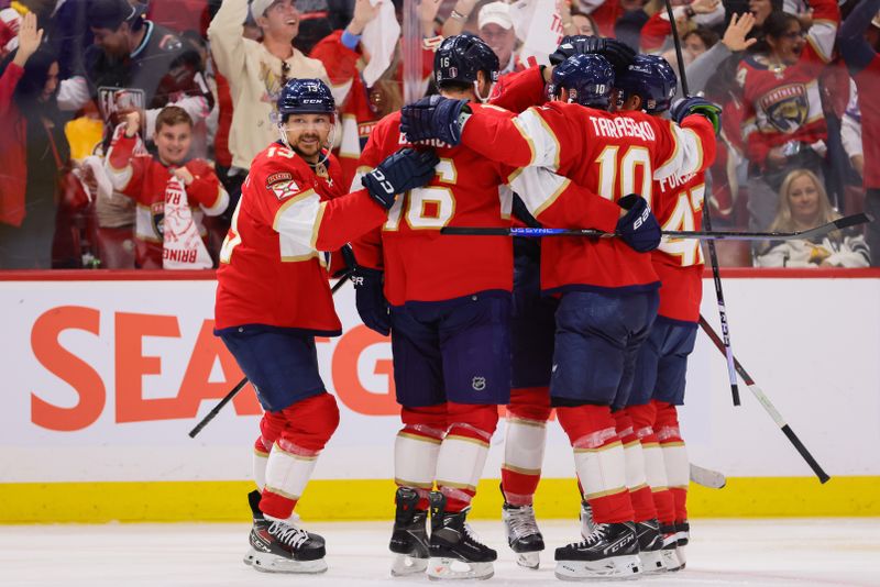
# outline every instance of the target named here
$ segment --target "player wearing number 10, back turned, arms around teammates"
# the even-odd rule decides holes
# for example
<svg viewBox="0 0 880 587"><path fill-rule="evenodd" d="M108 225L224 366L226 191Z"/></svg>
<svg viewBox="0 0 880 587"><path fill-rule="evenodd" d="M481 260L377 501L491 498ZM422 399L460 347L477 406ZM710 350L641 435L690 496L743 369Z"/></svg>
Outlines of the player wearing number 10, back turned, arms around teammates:
<svg viewBox="0 0 880 587"><path fill-rule="evenodd" d="M607 100L613 79L591 75L601 70L595 59L601 58L576 55L556 69L560 96L580 102L604 95ZM717 109L702 99L679 107L674 118L683 126L644 113L609 114L562 101L513 120L469 113L465 106L454 100L416 102L404 109L404 131L411 140L461 142L491 159L570 178L515 187L539 221L551 210L564 211L573 200L564 190L574 182L630 208L631 228L653 221L647 206L653 178L697 171L712 163L719 119ZM694 113L702 115L690 115ZM622 221L626 228L626 217ZM636 250L614 239L558 239L542 245L542 288L561 296L550 394L596 521L584 542L557 550L557 574L563 578L639 572L625 458L610 413L612 406L623 407L627 399L636 352L657 311L657 274L650 257L638 253L659 243L656 221L650 234L637 235L644 240L636 240Z"/></svg>

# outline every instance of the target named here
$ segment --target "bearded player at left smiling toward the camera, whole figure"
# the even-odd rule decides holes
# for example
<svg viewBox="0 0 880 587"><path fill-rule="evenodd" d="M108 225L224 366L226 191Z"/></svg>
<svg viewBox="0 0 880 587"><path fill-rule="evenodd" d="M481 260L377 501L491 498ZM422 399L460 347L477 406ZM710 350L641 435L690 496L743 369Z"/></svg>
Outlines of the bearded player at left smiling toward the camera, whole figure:
<svg viewBox="0 0 880 587"><path fill-rule="evenodd" d="M432 153L404 149L344 195L329 155L334 103L317 79L293 79L278 98L280 141L260 153L220 253L216 330L254 387L265 413L255 443L262 495L245 562L257 571L321 573L324 541L294 513L318 454L339 423L336 399L318 373L315 336L341 324L321 251L340 248L382 224L395 195L433 176Z"/></svg>

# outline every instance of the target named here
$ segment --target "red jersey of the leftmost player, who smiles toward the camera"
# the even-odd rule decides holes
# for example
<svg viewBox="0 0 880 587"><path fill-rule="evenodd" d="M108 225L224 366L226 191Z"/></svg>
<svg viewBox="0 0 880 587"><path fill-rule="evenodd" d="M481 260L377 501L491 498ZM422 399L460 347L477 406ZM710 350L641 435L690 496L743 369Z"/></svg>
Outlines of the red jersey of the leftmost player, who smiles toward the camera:
<svg viewBox="0 0 880 587"><path fill-rule="evenodd" d="M273 144L254 158L220 251L218 330L266 324L341 333L319 251L334 251L387 218L366 190L345 195L341 181L333 156L312 168Z"/></svg>

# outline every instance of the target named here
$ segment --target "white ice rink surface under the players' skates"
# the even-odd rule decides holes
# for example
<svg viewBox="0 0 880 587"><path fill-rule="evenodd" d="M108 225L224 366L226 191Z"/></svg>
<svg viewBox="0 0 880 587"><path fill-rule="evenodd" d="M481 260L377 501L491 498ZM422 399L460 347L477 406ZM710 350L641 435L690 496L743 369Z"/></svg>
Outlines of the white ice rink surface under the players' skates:
<svg viewBox="0 0 880 587"><path fill-rule="evenodd" d="M498 551L495 577L480 585L566 585L553 576L552 549L578 538L576 522L541 523L541 568L519 568L501 521L474 529ZM880 519L694 520L688 568L644 577L652 587L726 585L880 585ZM391 523L318 522L328 543L323 575L270 575L245 566L246 524L0 527L0 585L18 586L427 586L393 579ZM616 582L637 585L639 582ZM460 585L462 582L448 582ZM473 582L471 582L473 584ZM592 585L601 582L591 582ZM430 585L438 585L430 582Z"/></svg>

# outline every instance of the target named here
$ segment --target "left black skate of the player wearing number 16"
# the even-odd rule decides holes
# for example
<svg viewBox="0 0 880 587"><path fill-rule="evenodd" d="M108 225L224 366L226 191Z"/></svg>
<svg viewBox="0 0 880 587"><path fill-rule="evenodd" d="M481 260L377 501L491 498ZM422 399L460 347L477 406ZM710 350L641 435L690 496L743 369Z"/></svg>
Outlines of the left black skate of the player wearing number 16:
<svg viewBox="0 0 880 587"><path fill-rule="evenodd" d="M397 556L392 563L392 575L424 573L428 568L428 532L425 529L428 511L417 509L419 495L409 487L399 487L394 501L397 512L388 549Z"/></svg>

